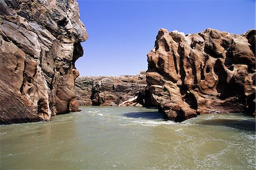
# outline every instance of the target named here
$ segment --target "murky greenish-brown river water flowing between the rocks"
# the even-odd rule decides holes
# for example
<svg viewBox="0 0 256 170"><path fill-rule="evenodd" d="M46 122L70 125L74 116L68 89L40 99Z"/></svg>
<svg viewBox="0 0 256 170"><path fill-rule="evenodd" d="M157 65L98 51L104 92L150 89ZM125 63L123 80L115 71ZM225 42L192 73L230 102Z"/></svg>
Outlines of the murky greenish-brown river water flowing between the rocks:
<svg viewBox="0 0 256 170"><path fill-rule="evenodd" d="M255 169L255 120L81 107L51 122L1 125L1 169Z"/></svg>

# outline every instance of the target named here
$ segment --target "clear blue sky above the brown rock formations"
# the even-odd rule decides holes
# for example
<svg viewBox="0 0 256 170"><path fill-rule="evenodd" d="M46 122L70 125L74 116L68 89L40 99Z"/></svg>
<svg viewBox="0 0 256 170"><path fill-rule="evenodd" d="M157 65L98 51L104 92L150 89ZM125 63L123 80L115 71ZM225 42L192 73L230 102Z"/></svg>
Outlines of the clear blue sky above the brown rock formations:
<svg viewBox="0 0 256 170"><path fill-rule="evenodd" d="M146 54L159 28L241 34L255 28L255 0L77 0L89 39L76 61L80 76L133 75L147 70Z"/></svg>

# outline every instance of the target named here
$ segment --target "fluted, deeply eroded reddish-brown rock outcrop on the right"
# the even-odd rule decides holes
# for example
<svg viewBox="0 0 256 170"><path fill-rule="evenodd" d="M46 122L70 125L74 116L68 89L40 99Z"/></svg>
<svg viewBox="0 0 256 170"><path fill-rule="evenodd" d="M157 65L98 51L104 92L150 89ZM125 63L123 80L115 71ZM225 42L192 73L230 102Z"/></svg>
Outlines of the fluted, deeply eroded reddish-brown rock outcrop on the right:
<svg viewBox="0 0 256 170"><path fill-rule="evenodd" d="M255 30L234 35L208 28L185 36L159 29L147 57L153 103L168 119L212 112L255 115Z"/></svg>

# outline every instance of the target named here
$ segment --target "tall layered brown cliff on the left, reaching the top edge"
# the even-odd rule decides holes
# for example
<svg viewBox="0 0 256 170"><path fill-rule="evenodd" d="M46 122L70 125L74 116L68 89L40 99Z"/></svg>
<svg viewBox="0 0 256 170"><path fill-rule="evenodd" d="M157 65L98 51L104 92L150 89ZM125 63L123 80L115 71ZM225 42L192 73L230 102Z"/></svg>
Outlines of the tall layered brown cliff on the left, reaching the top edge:
<svg viewBox="0 0 256 170"><path fill-rule="evenodd" d="M79 111L75 61L87 38L74 0L0 0L1 124Z"/></svg>

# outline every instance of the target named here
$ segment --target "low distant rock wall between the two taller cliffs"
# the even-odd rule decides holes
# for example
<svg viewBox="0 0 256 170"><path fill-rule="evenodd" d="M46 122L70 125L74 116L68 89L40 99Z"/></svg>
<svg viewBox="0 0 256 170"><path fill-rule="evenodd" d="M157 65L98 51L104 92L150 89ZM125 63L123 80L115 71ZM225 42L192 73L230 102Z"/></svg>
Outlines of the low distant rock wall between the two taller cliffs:
<svg viewBox="0 0 256 170"><path fill-rule="evenodd" d="M151 106L146 74L121 76L83 76L76 79L77 101L80 105L119 105L137 103Z"/></svg>

